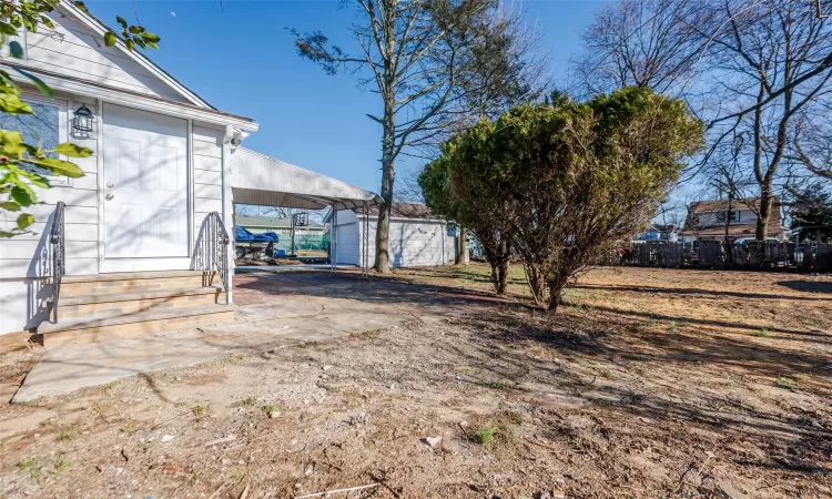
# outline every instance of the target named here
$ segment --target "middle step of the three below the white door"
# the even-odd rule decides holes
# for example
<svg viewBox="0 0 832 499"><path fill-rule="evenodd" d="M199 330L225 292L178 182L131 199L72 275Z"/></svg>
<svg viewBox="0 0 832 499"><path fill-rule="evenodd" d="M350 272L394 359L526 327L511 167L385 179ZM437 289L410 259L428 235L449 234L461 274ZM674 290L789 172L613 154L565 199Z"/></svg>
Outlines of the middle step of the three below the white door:
<svg viewBox="0 0 832 499"><path fill-rule="evenodd" d="M60 296L58 299L58 320L111 317L133 312L212 304L225 304L225 293L221 287L133 289Z"/></svg>

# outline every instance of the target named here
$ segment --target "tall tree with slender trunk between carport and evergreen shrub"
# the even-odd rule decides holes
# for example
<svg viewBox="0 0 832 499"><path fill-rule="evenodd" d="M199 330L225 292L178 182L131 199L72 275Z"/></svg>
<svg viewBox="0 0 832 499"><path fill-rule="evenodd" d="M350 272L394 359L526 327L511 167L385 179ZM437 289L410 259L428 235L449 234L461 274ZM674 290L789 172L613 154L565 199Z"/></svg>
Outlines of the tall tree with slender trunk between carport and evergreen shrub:
<svg viewBox="0 0 832 499"><path fill-rule="evenodd" d="M388 232L394 196L395 162L403 151L435 144L471 89L499 89L505 80L483 80L480 67L501 68L491 61L507 52L487 43L499 40L511 24L495 16L491 0L356 0L358 22L351 27L361 50L348 54L331 45L321 32L295 34L301 57L317 62L328 74L341 69L362 73L359 84L382 98L381 115L367 114L382 125L382 197L376 231L375 268L389 272ZM484 43L486 45L484 47ZM464 106L463 106L464 108Z"/></svg>

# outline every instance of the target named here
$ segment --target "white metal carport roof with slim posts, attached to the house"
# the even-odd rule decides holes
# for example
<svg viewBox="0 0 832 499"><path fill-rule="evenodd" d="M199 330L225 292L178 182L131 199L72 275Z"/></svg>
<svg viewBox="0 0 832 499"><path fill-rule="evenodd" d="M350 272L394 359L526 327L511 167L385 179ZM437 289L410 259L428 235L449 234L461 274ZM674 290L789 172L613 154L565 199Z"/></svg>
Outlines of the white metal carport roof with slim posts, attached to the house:
<svg viewBox="0 0 832 499"><path fill-rule="evenodd" d="M339 210L363 208L366 213L371 206L382 204L382 196L374 192L244 147L232 155L229 177L234 204L300 210L323 210L328 206L332 208L333 227ZM335 255L338 244L336 231L331 230L329 237L329 254ZM369 253L366 251L368 237L365 228L362 234L365 251L361 258L364 277L369 267ZM329 265L335 271L336 258L331 257Z"/></svg>

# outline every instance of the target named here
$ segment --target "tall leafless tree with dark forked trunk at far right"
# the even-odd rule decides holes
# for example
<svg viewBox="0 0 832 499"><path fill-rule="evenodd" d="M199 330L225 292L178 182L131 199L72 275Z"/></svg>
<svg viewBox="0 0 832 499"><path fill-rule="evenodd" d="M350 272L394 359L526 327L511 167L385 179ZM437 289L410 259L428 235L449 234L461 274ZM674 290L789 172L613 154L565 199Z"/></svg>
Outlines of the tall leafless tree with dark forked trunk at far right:
<svg viewBox="0 0 832 499"><path fill-rule="evenodd" d="M713 8L721 24L701 31L712 40L708 83L721 102L709 123L712 147L742 139L740 154L760 195L755 237L763 241L798 118L830 90L832 30L805 0L719 0Z"/></svg>

